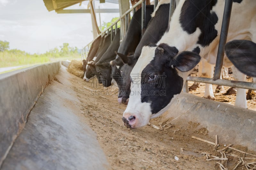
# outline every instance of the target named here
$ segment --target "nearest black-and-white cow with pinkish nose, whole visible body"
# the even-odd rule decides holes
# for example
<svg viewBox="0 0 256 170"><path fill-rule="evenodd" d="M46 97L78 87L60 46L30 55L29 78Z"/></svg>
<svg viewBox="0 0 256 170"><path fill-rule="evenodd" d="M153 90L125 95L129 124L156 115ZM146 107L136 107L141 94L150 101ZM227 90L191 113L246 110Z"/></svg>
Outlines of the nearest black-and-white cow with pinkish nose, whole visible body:
<svg viewBox="0 0 256 170"><path fill-rule="evenodd" d="M130 100L123 114L127 127L145 126L150 118L163 114L177 99L190 70L201 56L215 64L224 5L225 0L181 0L173 13L169 31L155 46L142 48L131 72ZM255 41L255 9L253 1L234 0L227 41ZM225 57L224 66L230 65L232 63ZM203 70L203 74L212 77L212 69L209 70ZM246 76L235 67L232 70L235 80L245 80ZM246 107L245 89L237 89L235 105Z"/></svg>

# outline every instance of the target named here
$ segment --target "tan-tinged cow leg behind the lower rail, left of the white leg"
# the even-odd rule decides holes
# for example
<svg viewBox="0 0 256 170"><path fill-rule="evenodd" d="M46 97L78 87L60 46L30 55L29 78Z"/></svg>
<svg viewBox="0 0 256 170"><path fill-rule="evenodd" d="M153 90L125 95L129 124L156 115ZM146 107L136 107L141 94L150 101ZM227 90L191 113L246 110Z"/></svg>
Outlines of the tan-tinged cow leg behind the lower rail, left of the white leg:
<svg viewBox="0 0 256 170"><path fill-rule="evenodd" d="M207 63L204 59L202 60L202 65L202 77L212 78L214 65ZM213 95L212 84L205 84L204 98L212 100L215 99Z"/></svg>

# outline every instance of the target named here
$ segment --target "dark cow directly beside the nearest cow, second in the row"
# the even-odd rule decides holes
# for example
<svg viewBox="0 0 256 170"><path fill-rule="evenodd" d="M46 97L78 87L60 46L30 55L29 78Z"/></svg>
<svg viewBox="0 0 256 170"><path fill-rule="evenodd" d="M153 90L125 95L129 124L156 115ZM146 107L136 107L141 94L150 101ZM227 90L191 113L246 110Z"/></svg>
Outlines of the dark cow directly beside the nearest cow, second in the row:
<svg viewBox="0 0 256 170"><path fill-rule="evenodd" d="M128 103L131 87L130 73L132 68L140 56L142 47L150 43L156 43L166 32L168 28L169 11L170 0L161 0L156 6L156 10L152 13L152 18L149 21L145 33L142 36L134 54L126 56L125 54L118 52L118 58L111 63L112 74L116 73L116 82L118 85L117 101L119 103ZM118 60L121 60L121 62L117 62ZM115 67L118 67L118 70L120 71L114 72L113 69L115 69Z"/></svg>

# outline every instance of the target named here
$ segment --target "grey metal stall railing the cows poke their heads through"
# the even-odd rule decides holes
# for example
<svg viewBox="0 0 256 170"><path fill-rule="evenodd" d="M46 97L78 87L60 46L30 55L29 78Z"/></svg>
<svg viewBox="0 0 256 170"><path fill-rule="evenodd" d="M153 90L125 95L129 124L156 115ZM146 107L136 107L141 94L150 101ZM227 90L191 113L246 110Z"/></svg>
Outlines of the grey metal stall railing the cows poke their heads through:
<svg viewBox="0 0 256 170"><path fill-rule="evenodd" d="M176 0L176 2L179 2L179 1ZM128 28L128 24L129 24L128 23L128 17L126 17L126 16L128 14L130 14L131 11L135 12L135 8L138 5L140 5L141 3L145 3L145 0L140 0L139 2L137 2L134 6L132 6L132 8L130 8L120 18L118 18L111 26L109 26L106 30L104 30L102 33L100 33L99 36L102 36L106 32L109 33L109 29L111 29L111 40L112 40L112 38L113 38L113 26L115 25L117 27L117 22L119 22L120 19L123 19L124 17L125 17L125 32L126 32L127 28ZM170 4L169 20L171 19L173 11L174 11L175 0L170 0L170 3L171 4ZM223 58L224 58L224 47L225 47L225 44L226 44L226 41L227 41L228 26L229 26L229 20L230 20L231 10L232 10L232 3L233 3L232 0L226 0L225 1L225 7L224 7L224 12L223 12L223 20L222 20L222 26L221 26L221 32L220 32L220 43L219 43L219 47L218 47L218 53L217 53L217 59L216 59L213 78L203 78L203 77L189 76L187 78L187 81L208 83L208 84L215 84L215 85L225 85L225 86L229 86L229 87L237 87L237 88L256 90L256 83L220 79L220 74L221 74L221 69L222 69L222 64L223 64ZM154 5L155 5L154 6L154 9L155 9L155 7L157 5L157 1L155 1ZM145 10L146 10L145 6L146 6L145 4L142 4L142 23L144 23ZM145 29L145 24L142 24L141 29L142 29L142 33L143 33L143 29ZM121 39L122 39L122 36L121 36ZM92 44L92 42L88 43L83 48L83 50L81 52L82 60L86 58L87 53L88 53L86 47L88 47L88 49L90 49L90 45ZM83 58L83 57L85 57L85 58ZM186 82L186 84L188 84L188 83ZM185 88L185 89L188 92L188 88Z"/></svg>

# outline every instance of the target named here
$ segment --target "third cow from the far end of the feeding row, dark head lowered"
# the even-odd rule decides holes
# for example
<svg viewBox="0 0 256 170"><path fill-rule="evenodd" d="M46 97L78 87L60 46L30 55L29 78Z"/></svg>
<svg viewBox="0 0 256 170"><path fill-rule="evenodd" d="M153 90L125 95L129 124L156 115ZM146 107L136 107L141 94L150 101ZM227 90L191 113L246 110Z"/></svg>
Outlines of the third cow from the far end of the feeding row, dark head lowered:
<svg viewBox="0 0 256 170"><path fill-rule="evenodd" d="M91 74L95 74L99 80L99 83L102 83L104 87L108 87L111 85L111 66L109 62L116 58L115 51L118 50L119 44L120 29L117 30L113 41L111 42L105 53L100 57L100 59L96 63L88 64L92 70Z"/></svg>

